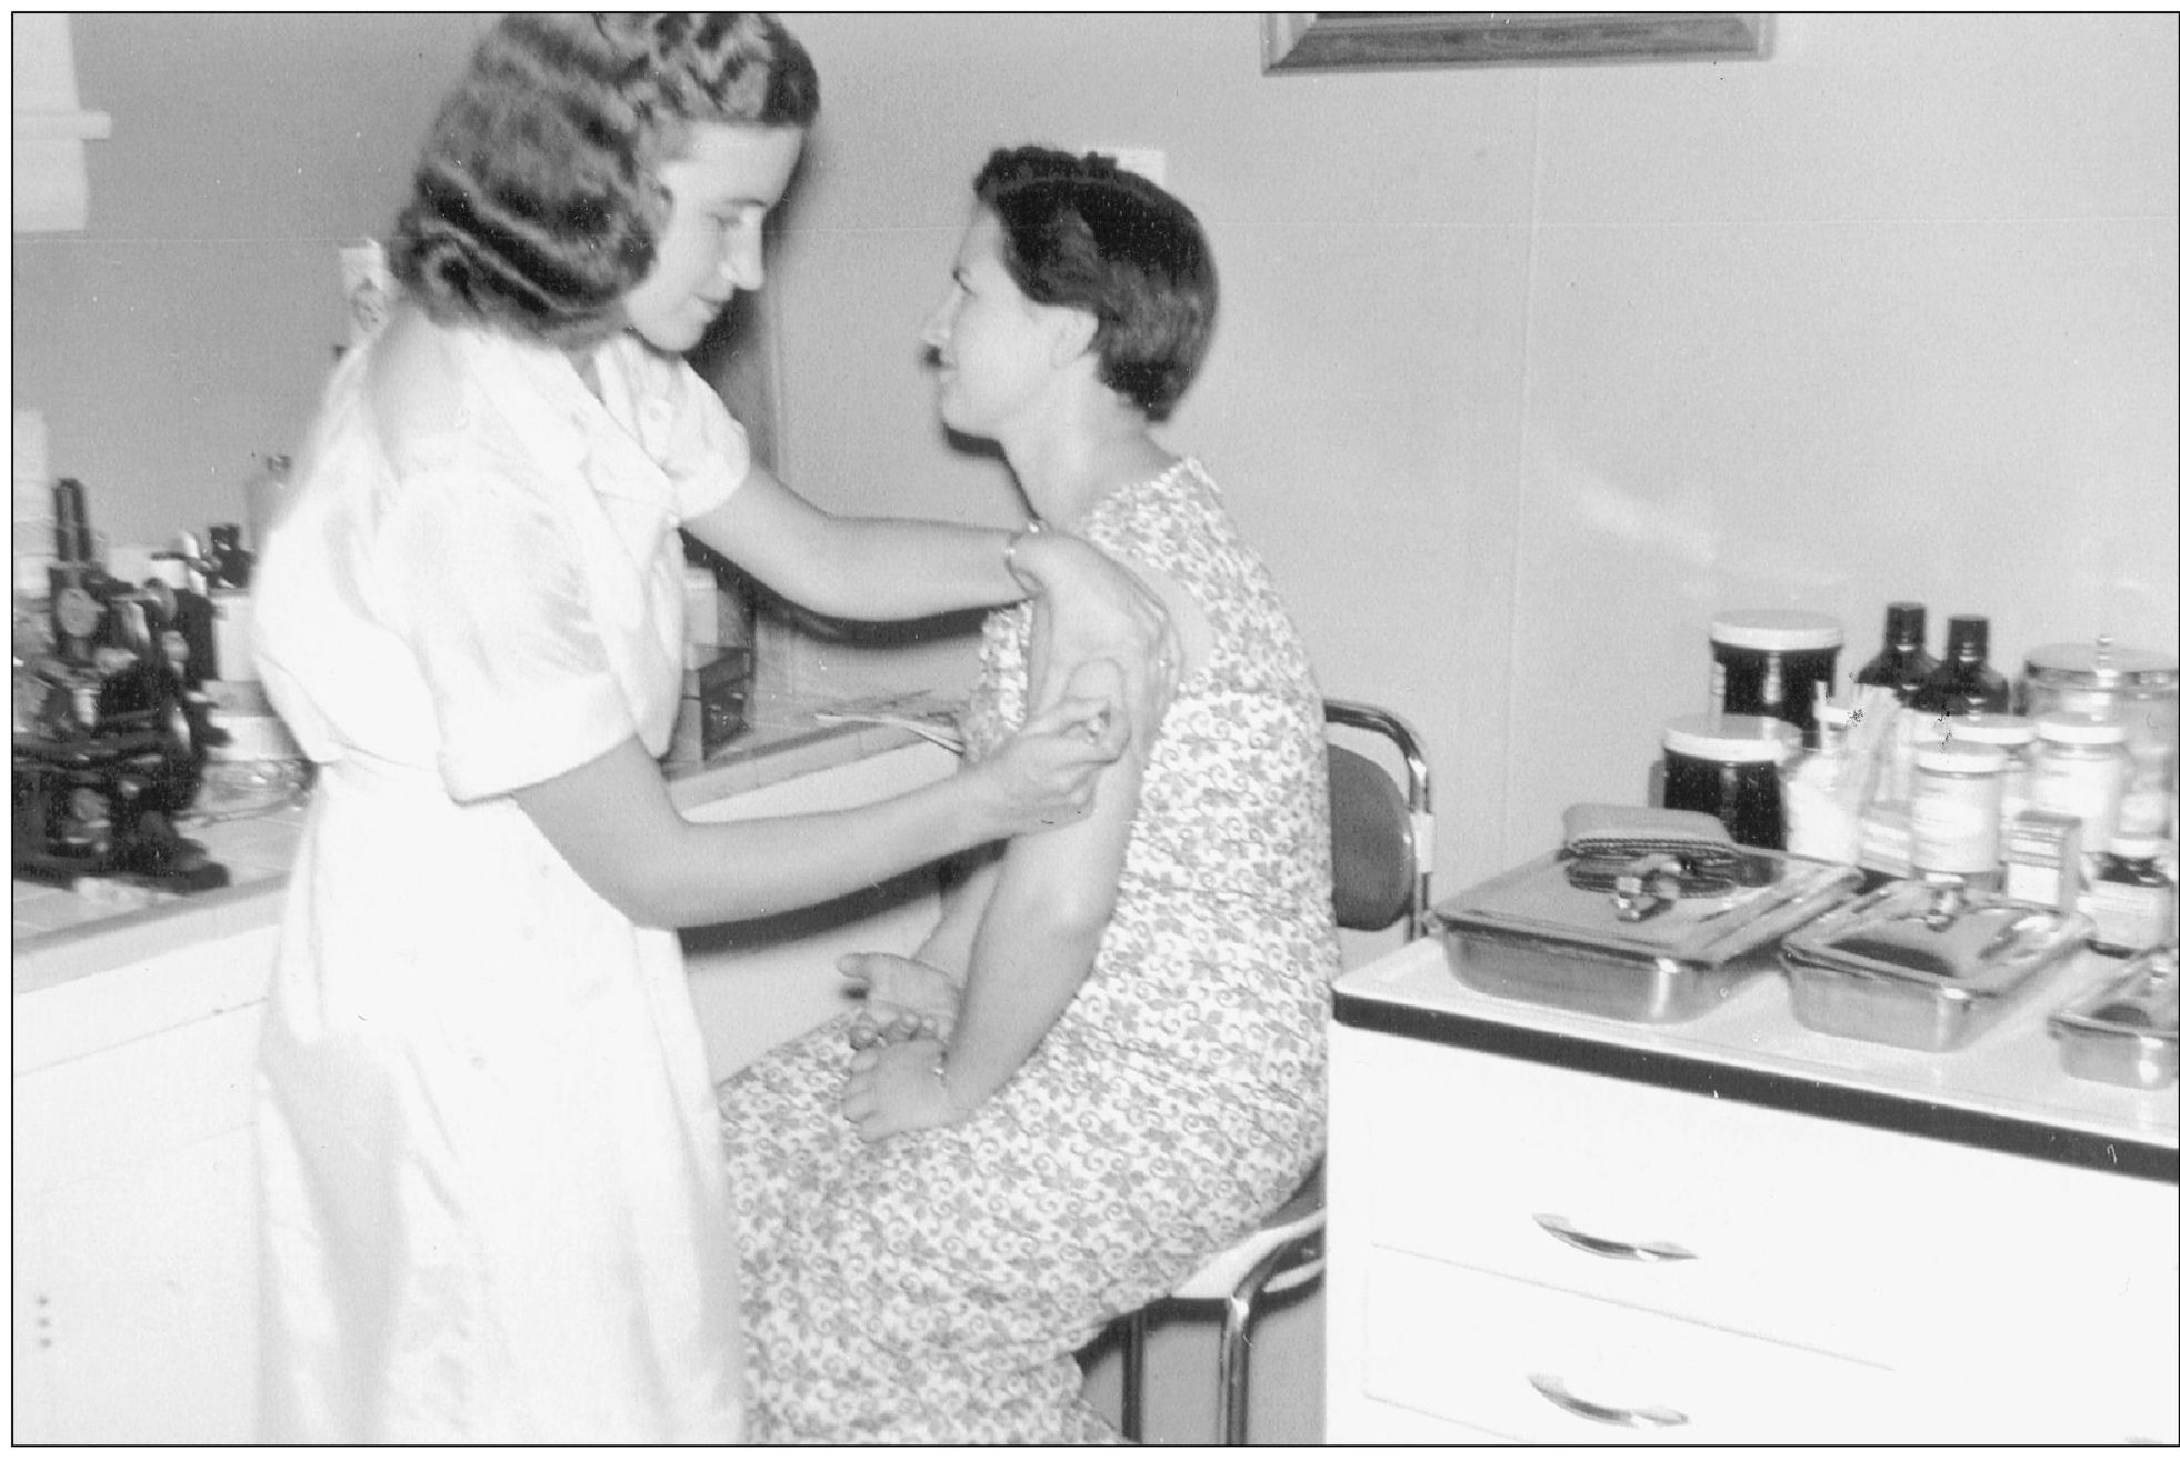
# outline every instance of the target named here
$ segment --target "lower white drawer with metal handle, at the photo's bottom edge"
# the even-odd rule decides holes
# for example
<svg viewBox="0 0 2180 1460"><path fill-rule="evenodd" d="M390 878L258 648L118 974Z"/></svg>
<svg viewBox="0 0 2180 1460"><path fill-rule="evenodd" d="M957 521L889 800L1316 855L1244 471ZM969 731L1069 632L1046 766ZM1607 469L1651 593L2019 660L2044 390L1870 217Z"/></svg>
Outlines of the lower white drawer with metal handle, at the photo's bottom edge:
<svg viewBox="0 0 2180 1460"><path fill-rule="evenodd" d="M1517 1440L1901 1438L1894 1375L1598 1299L1371 1251L1369 1399Z"/></svg>

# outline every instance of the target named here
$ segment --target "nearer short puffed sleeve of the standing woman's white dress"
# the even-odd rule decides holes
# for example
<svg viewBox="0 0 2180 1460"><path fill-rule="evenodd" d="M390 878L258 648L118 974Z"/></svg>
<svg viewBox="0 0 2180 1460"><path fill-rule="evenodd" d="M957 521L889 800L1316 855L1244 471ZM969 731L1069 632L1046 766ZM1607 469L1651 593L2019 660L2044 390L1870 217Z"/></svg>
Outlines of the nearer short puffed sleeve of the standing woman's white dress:
<svg viewBox="0 0 2180 1460"><path fill-rule="evenodd" d="M384 523L401 636L458 802L549 780L634 734L567 532L536 484L471 466L408 479Z"/></svg>

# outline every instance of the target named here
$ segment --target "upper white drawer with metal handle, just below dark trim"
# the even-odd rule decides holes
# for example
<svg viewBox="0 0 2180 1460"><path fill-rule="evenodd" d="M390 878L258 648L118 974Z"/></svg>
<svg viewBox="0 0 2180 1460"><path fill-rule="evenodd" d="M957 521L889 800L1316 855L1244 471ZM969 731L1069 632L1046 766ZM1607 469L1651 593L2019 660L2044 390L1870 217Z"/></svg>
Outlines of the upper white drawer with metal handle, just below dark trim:
<svg viewBox="0 0 2180 1460"><path fill-rule="evenodd" d="M1339 1100L1378 1244L1894 1366L2165 1331L2180 1268L2149 1181L1413 1042Z"/></svg>

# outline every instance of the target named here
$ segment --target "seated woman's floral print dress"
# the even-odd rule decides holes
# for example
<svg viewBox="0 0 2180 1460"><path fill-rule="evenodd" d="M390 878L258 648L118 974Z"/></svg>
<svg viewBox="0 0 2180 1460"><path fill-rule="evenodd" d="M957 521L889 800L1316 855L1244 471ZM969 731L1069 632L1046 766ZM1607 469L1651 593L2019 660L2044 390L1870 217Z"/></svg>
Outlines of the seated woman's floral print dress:
<svg viewBox="0 0 2180 1460"><path fill-rule="evenodd" d="M1151 752L1097 961L953 1127L863 1144L846 1020L722 1085L752 1440L1110 1440L1075 1351L1168 1292L1323 1148L1339 963L1323 704L1195 460L1079 527L1216 628ZM968 754L1022 721L1031 608L985 623Z"/></svg>

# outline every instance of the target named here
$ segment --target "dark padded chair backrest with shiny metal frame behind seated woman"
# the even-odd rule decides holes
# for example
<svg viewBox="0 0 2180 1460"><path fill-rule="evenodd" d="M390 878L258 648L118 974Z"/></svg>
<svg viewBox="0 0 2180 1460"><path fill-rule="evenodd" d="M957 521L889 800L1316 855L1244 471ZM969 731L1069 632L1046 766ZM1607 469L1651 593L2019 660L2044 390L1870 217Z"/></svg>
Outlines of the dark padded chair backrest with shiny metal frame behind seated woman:
<svg viewBox="0 0 2180 1460"><path fill-rule="evenodd" d="M1400 784L1376 758L1328 745L1332 915L1365 933L1406 920L1421 937L1434 839L1424 741L1400 715L1354 699L1325 699L1325 726L1382 737L1406 769Z"/></svg>

